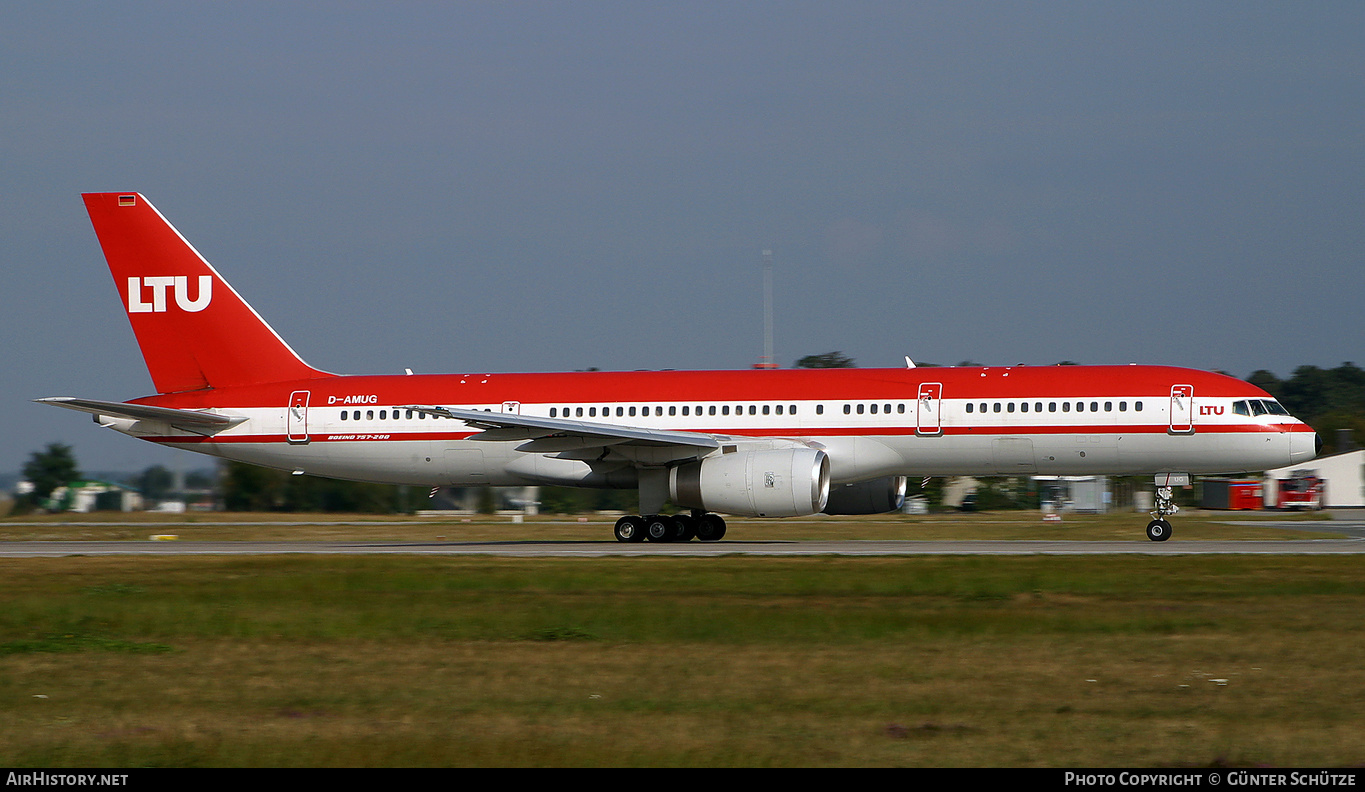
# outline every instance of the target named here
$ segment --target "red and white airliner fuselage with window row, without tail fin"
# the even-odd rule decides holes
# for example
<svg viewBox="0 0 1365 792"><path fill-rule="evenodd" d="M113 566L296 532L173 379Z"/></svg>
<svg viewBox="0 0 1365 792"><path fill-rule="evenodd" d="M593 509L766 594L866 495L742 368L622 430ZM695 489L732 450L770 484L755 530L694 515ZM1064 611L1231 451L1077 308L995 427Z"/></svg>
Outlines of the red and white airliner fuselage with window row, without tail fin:
<svg viewBox="0 0 1365 792"><path fill-rule="evenodd" d="M1252 401L1257 410L1245 407ZM500 440L411 406L703 433L747 448L804 444L829 453L834 483L1238 472L1310 459L1316 440L1301 421L1276 414L1283 410L1260 407L1275 403L1253 385L1164 366L336 376L134 403L246 418L213 436L149 421L113 426L153 442L427 486L633 486L637 464L613 459L610 447L588 460L573 459L572 444L546 452L542 440L527 449L526 438Z"/></svg>

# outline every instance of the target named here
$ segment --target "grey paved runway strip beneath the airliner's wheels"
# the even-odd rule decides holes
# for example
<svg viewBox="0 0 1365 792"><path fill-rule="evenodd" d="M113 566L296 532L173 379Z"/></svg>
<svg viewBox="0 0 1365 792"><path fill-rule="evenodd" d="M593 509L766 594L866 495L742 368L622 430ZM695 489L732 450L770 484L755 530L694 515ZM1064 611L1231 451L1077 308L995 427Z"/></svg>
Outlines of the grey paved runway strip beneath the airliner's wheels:
<svg viewBox="0 0 1365 792"><path fill-rule="evenodd" d="M1365 539L1301 541L766 541L625 545L616 541L485 542L0 542L0 557L61 556L268 556L412 554L508 557L719 557L719 556L1340 556L1365 553Z"/></svg>

